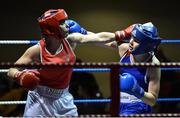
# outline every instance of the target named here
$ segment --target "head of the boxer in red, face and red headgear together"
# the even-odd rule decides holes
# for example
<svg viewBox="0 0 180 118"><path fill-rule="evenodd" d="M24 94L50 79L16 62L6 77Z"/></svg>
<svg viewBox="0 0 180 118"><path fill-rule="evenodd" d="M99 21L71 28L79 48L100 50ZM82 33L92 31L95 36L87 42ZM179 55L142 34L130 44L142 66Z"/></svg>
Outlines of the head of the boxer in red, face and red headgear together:
<svg viewBox="0 0 180 118"><path fill-rule="evenodd" d="M48 38L62 40L67 36L67 27L64 21L68 18L63 9L50 9L46 11L38 22L42 34Z"/></svg>

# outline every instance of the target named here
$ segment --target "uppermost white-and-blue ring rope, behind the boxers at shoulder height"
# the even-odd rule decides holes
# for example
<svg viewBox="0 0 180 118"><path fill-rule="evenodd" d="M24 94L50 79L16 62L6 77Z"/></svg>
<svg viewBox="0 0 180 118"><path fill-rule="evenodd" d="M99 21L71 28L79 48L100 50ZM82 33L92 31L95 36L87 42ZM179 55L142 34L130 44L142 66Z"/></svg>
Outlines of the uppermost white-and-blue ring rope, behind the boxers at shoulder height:
<svg viewBox="0 0 180 118"><path fill-rule="evenodd" d="M30 40L0 40L1 44L37 44L39 40L36 39L30 39ZM163 39L161 40L162 44L165 43L180 43L180 40L173 40L173 39Z"/></svg>

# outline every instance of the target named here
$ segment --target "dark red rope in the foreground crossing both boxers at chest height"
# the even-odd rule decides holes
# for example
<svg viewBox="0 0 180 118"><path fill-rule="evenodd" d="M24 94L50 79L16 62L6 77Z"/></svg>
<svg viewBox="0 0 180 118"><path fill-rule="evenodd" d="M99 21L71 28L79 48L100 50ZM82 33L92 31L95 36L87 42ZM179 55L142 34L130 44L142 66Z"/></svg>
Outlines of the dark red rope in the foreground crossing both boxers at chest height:
<svg viewBox="0 0 180 118"><path fill-rule="evenodd" d="M119 62L82 62L82 63L49 63L49 64L42 64L42 63L31 63L31 64L14 64L11 62L1 62L1 68L10 68L10 67L23 67L23 68L42 68L42 67L74 67L74 68L120 68L120 67L161 67L161 68L179 68L180 62L162 62L159 64L155 63L119 63Z"/></svg>

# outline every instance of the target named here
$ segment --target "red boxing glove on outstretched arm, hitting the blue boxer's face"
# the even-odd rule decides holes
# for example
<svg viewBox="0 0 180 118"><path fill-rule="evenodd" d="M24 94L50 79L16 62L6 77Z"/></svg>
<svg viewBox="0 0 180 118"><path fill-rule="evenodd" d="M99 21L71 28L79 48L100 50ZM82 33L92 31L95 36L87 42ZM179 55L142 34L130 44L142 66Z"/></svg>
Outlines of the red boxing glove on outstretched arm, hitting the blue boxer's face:
<svg viewBox="0 0 180 118"><path fill-rule="evenodd" d="M125 38L130 38L131 37L131 32L134 28L136 24L130 25L129 27L127 27L124 30L121 31L116 31L115 32L115 40L117 41L117 43L123 43L125 41L123 41L123 39Z"/></svg>

